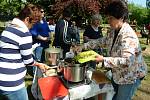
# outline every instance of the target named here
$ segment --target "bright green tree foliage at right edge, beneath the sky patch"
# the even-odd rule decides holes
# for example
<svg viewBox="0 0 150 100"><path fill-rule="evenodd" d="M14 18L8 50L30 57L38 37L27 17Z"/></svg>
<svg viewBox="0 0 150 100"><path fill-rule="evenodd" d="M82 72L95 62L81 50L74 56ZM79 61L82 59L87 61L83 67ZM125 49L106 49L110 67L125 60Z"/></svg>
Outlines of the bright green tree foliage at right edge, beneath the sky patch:
<svg viewBox="0 0 150 100"><path fill-rule="evenodd" d="M130 21L136 20L138 25L147 24L150 22L150 9L128 4Z"/></svg>

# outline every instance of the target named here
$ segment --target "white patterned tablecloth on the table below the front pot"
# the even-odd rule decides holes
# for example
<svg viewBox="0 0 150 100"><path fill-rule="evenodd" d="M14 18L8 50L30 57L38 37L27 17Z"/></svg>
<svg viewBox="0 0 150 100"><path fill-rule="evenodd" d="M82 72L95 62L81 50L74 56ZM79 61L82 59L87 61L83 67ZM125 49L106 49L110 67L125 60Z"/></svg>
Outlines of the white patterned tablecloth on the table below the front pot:
<svg viewBox="0 0 150 100"><path fill-rule="evenodd" d="M105 93L105 100L112 100L114 89L111 84L96 84L94 81L89 85L83 84L69 89L70 100L83 100L101 93Z"/></svg>

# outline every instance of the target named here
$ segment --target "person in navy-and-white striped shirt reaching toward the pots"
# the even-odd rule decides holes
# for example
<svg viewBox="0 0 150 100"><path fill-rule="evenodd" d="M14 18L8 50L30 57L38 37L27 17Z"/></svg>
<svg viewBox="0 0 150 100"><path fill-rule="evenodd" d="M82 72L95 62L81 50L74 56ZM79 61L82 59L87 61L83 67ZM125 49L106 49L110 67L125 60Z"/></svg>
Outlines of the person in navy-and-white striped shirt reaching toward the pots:
<svg viewBox="0 0 150 100"><path fill-rule="evenodd" d="M47 69L45 64L32 58L29 29L39 20L38 13L35 5L26 5L0 36L0 100L28 100L25 66Z"/></svg>

